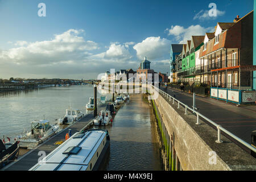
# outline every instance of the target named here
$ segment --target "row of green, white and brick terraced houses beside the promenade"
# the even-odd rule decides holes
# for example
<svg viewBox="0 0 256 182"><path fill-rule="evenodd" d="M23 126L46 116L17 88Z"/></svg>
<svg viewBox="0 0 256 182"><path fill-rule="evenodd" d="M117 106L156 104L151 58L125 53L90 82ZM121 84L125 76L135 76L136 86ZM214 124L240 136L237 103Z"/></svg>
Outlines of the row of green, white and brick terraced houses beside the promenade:
<svg viewBox="0 0 256 182"><path fill-rule="evenodd" d="M210 88L211 97L229 102L256 101L253 89L254 11L233 22L218 22L214 32L192 36L176 56L177 80L188 83L191 92ZM179 61L182 58L181 69Z"/></svg>

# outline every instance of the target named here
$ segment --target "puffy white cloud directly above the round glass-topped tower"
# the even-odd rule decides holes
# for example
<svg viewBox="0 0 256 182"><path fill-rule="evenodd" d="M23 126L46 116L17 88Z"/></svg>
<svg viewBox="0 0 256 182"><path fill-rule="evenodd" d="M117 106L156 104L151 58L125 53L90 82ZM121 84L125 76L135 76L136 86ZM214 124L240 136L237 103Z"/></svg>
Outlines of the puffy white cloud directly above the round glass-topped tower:
<svg viewBox="0 0 256 182"><path fill-rule="evenodd" d="M135 44L133 48L137 51L139 59L146 56L149 60L155 60L169 56L170 46L170 40L162 39L159 36L146 38L141 43Z"/></svg>

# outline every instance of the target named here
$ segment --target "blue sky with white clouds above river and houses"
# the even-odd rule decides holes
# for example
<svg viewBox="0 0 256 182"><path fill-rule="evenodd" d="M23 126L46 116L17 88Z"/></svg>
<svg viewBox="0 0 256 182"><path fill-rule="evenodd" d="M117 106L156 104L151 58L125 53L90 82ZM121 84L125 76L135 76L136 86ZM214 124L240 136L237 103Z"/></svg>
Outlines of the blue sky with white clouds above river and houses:
<svg viewBox="0 0 256 182"><path fill-rule="evenodd" d="M90 79L145 56L167 73L171 44L251 10L253 0L0 0L0 78Z"/></svg>

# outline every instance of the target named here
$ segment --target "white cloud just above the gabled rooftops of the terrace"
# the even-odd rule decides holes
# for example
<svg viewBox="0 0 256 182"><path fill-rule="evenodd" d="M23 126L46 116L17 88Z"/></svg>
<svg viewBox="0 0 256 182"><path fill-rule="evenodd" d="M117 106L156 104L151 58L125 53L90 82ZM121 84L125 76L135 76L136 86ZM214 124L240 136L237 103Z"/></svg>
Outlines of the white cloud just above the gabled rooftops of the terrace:
<svg viewBox="0 0 256 182"><path fill-rule="evenodd" d="M176 25L171 26L170 29L166 29L168 31L168 35L175 36L175 40L180 44L186 43L187 40L191 40L192 35L205 35L206 32L214 31L214 27L201 27L199 24L192 25L188 28L184 28L182 26Z"/></svg>

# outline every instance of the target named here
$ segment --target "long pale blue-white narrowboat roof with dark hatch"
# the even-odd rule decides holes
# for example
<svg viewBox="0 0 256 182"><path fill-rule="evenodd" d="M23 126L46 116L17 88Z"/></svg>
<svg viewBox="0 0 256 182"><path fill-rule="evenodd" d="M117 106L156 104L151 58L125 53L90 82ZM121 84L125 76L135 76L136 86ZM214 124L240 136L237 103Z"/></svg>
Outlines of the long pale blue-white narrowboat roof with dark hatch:
<svg viewBox="0 0 256 182"><path fill-rule="evenodd" d="M30 171L85 171L105 136L103 130L76 133Z"/></svg>

